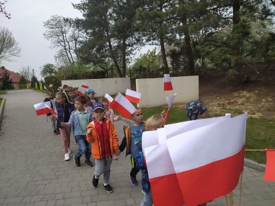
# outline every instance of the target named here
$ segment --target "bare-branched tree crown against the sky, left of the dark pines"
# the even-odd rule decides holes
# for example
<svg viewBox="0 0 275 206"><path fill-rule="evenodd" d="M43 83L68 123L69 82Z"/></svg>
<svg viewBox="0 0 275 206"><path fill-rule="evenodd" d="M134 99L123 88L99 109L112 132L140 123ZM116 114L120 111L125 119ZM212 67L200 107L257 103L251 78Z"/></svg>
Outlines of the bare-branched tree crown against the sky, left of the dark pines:
<svg viewBox="0 0 275 206"><path fill-rule="evenodd" d="M57 58L67 57L70 64L78 60L78 44L83 38L83 32L78 25L70 19L54 15L43 23L46 32L44 37L52 43L52 47L58 48Z"/></svg>

